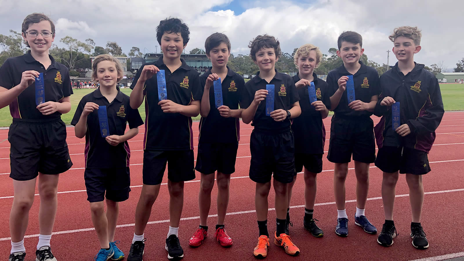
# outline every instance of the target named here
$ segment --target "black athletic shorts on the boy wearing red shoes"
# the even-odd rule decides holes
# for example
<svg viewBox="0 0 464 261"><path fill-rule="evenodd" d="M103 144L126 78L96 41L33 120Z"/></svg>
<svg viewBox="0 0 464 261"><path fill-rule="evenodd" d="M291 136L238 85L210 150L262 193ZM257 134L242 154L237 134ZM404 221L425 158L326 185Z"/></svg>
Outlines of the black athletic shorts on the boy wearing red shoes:
<svg viewBox="0 0 464 261"><path fill-rule="evenodd" d="M200 143L198 144L195 170L203 174L212 174L216 170L231 175L235 172L238 142Z"/></svg>

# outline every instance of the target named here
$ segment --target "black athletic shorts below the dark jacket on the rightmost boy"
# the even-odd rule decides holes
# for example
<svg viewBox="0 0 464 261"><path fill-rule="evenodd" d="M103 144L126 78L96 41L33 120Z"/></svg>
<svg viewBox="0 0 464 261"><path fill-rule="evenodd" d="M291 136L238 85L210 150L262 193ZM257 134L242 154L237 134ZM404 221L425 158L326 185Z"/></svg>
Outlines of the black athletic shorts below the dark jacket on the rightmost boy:
<svg viewBox="0 0 464 261"><path fill-rule="evenodd" d="M424 175L430 172L427 152L406 147L383 146L377 153L375 166L383 172Z"/></svg>

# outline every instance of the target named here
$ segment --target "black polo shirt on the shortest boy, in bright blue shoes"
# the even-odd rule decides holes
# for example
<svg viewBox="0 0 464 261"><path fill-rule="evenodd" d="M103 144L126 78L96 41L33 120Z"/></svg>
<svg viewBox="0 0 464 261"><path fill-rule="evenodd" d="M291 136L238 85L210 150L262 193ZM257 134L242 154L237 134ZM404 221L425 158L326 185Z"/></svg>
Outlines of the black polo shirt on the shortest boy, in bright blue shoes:
<svg viewBox="0 0 464 261"><path fill-rule="evenodd" d="M129 96L118 91L116 98L110 103L100 92L100 88L85 95L72 118L71 125L76 126L84 106L88 102L106 106L110 135L124 135L126 123L133 129L143 124L139 111L130 107ZM85 133L84 160L87 169L125 168L129 167L130 149L127 141L110 145L100 133L98 110L87 116L87 132Z"/></svg>

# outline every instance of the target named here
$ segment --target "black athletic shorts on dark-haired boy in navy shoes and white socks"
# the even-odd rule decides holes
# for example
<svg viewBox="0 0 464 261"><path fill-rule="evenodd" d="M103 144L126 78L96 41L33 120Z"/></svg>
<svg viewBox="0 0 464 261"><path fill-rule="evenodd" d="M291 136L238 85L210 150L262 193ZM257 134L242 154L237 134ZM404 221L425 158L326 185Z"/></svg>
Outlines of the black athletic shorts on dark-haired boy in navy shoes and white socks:
<svg viewBox="0 0 464 261"><path fill-rule="evenodd" d="M375 161L374 122L371 118L332 117L327 159L333 163Z"/></svg>

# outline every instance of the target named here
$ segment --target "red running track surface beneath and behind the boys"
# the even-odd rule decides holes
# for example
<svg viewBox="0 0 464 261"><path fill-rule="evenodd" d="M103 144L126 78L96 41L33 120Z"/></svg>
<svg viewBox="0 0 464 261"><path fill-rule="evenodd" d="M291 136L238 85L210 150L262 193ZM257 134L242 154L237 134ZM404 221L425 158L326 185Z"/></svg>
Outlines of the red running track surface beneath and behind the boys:
<svg viewBox="0 0 464 261"><path fill-rule="evenodd" d="M374 117L374 123L379 118ZM324 120L330 135L330 118ZM142 126L143 127L143 126ZM194 137L198 137L198 123L193 124ZM129 200L120 204L120 216L116 228L116 239L121 241L120 248L129 252L130 243L134 233L135 205L138 201L142 185L142 133L134 137L130 142L131 148L131 180L132 192ZM254 183L248 178L250 164L249 141L252 127L241 124L241 139L237 153L236 172L232 174L231 198L226 217L228 234L234 240L232 248L222 248L213 239L214 229L210 229L208 237L200 248L189 248L187 241L199 224L197 178L185 184L185 200L182 220L180 222L180 242L184 248L184 260L254 260L251 252L257 243L258 226L254 213ZM0 191L0 249L4 253L10 250L8 219L13 203L13 183L9 178L9 146L7 130L0 131L0 183L3 189ZM346 181L347 212L350 222L349 236L341 238L335 235L336 208L333 196L333 169L334 164L324 157L323 172L318 175L318 191L316 196L315 217L320 220L320 228L324 230L324 237L315 238L303 228L304 198L303 175L298 175L293 189L290 217L293 227L290 234L293 242L300 248L301 254L292 258L284 254L284 251L271 242L267 260L413 260L444 254L452 254L464 250L461 229L464 226L462 219L462 206L464 204L464 112L446 112L438 127L437 139L429 154L432 172L424 176L425 192L437 192L425 195L422 224L430 248L425 251L416 250L411 245L410 233L410 206L409 190L404 176L400 175L396 194L394 219L400 234L395 238L395 243L390 248L377 244L376 235L368 235L361 228L354 225L355 212L355 177L354 170L349 170ZM60 176L58 191L58 214L52 237L52 249L60 261L93 260L99 250L97 235L93 231L90 220L89 204L86 201L84 185L84 139L74 137L74 129L68 128L69 150L74 165L72 169ZM198 139L194 139L194 146L198 145ZM325 151L328 150L329 141L326 141ZM196 157L196 148L195 148ZM350 168L354 167L350 163ZM369 220L380 230L384 222L382 201L380 194L381 171L372 164L370 169L370 190L367 202L366 215ZM150 217L150 223L145 231L148 238L145 247L144 260L166 260L164 239L168 232L168 201L169 195L166 183L167 175L163 179L160 195L155 202L154 210ZM37 193L37 192L36 192ZM216 214L216 188L213 189L210 214ZM274 207L274 193L271 189L269 195L269 208ZM39 197L32 206L29 216L29 227L26 231L25 246L27 250L26 260L33 260L33 253L37 244L39 228L38 216ZM275 211L269 211L269 232L275 231ZM208 219L208 225L214 228L216 217ZM454 239L454 240L453 240Z"/></svg>

